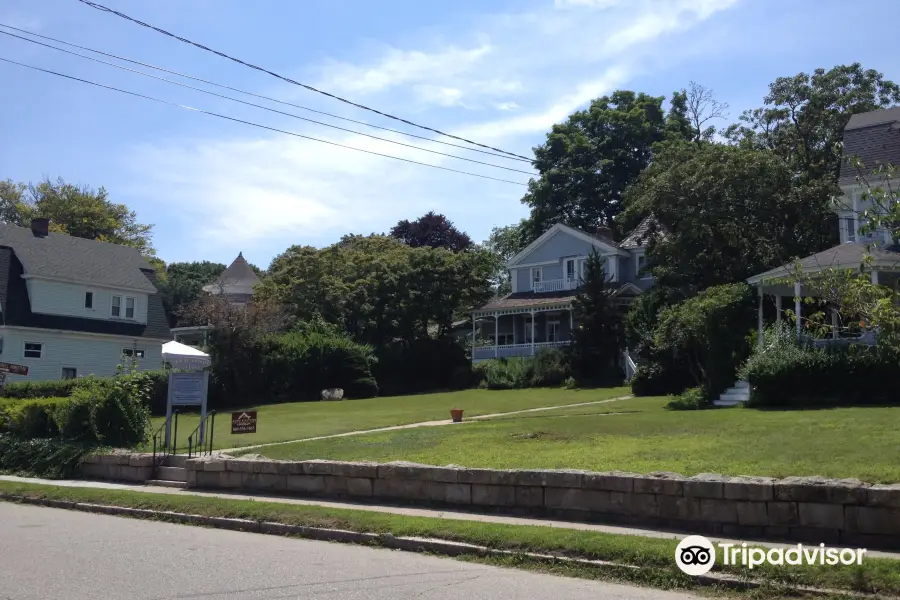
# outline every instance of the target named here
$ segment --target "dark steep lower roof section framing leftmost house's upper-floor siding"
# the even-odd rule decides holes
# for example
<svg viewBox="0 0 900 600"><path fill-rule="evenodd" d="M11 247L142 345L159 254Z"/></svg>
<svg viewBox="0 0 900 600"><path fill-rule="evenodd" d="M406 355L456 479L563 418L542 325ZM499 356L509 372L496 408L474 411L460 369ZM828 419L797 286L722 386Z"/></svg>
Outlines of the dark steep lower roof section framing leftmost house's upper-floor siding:
<svg viewBox="0 0 900 600"><path fill-rule="evenodd" d="M0 247L0 313L3 325L32 327L37 329L57 329L82 333L100 333L125 337L148 338L154 340L172 339L166 311L159 293L148 294L147 323L87 319L64 315L47 315L31 312L28 288L22 279L22 262L16 252L9 247ZM151 289L156 290L156 272L147 270L142 274Z"/></svg>

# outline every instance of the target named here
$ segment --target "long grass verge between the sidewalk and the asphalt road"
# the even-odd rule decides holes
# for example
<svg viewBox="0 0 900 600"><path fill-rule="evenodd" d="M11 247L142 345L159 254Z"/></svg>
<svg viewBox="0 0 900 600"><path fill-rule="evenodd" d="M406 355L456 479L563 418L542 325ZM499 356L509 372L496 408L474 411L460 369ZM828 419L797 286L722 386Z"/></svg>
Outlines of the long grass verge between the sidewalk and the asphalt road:
<svg viewBox="0 0 900 600"><path fill-rule="evenodd" d="M663 588L691 589L697 584L675 566L677 540L643 538L576 529L533 525L507 525L408 517L365 510L336 509L275 502L258 502L207 496L167 495L124 490L71 488L0 481L0 492L16 497L91 502L131 508L174 511L212 517L233 517L309 527L391 533L395 536L428 537L467 542L510 551L552 553L558 556L599 559L641 567L640 570L572 566L539 561L519 555L482 559L503 566L550 570L579 577L623 579ZM165 516L160 517L165 520ZM771 594L782 595L785 587L816 586L880 595L900 594L900 561L866 558L859 566L784 566L748 571L717 564L714 572L762 578ZM761 597L753 592L754 597Z"/></svg>

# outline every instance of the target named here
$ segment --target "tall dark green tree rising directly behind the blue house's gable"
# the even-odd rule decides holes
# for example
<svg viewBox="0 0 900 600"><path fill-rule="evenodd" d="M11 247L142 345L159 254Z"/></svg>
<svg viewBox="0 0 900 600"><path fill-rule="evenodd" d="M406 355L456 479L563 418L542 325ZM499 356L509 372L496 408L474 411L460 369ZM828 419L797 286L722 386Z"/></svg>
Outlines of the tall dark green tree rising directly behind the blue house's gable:
<svg viewBox="0 0 900 600"><path fill-rule="evenodd" d="M534 149L538 179L522 202L531 208L526 238L553 224L587 230L614 224L622 194L647 166L653 145L665 135L662 97L617 91L553 126Z"/></svg>

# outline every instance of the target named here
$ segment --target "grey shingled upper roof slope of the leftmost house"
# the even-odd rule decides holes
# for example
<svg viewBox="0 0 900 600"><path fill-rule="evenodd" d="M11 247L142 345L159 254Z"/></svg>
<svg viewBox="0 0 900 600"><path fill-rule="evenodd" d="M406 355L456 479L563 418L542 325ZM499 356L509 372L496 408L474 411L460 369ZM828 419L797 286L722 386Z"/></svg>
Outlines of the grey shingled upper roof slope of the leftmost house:
<svg viewBox="0 0 900 600"><path fill-rule="evenodd" d="M0 246L12 248L26 275L156 292L144 275L153 267L135 248L62 233L39 237L27 227L0 225Z"/></svg>

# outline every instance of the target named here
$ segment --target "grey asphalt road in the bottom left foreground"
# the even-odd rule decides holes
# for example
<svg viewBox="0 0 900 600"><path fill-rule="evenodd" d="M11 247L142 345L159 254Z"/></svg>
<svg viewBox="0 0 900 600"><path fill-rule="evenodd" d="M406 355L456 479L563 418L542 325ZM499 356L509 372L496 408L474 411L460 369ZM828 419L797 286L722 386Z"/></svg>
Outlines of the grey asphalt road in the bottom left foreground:
<svg viewBox="0 0 900 600"><path fill-rule="evenodd" d="M0 503L0 600L678 600L413 553Z"/></svg>

